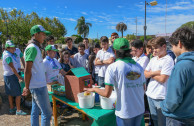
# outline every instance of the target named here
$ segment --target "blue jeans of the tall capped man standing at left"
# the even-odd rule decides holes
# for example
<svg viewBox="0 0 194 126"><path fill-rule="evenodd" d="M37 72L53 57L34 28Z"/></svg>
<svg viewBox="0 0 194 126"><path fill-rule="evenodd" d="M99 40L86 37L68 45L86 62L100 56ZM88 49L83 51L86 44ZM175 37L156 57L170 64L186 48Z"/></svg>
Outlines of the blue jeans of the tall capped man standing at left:
<svg viewBox="0 0 194 126"><path fill-rule="evenodd" d="M50 126L52 108L47 87L30 89L32 94L31 126L39 126L41 111L41 126Z"/></svg>

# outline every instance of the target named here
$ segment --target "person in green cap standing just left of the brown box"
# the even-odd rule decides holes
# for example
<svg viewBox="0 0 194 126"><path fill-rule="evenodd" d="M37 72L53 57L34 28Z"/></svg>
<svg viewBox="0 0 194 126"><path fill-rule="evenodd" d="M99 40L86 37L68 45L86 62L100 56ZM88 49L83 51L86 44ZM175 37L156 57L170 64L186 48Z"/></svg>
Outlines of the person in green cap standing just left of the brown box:
<svg viewBox="0 0 194 126"><path fill-rule="evenodd" d="M61 73L65 75L65 71L61 68L60 63L55 59L56 52L58 51L54 45L47 45L45 47L47 56L43 60L46 71L47 84L58 83L58 75Z"/></svg>

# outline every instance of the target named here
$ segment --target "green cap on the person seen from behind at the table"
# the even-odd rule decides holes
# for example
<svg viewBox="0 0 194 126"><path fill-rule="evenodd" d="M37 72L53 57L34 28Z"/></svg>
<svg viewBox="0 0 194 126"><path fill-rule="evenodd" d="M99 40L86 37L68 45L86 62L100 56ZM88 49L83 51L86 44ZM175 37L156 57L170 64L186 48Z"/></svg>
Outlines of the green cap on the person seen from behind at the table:
<svg viewBox="0 0 194 126"><path fill-rule="evenodd" d="M117 38L113 42L113 48L115 50L128 50L129 49L129 41L125 38Z"/></svg>

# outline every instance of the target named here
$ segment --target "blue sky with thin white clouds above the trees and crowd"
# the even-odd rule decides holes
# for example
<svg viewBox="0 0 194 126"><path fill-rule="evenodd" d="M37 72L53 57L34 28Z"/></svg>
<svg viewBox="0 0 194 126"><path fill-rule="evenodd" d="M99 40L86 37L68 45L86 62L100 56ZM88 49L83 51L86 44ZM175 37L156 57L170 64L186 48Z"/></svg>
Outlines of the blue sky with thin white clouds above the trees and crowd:
<svg viewBox="0 0 194 126"><path fill-rule="evenodd" d="M157 0L157 3L146 6L147 35L172 33L182 24L194 21L194 0ZM136 18L137 35L144 34L144 0L0 0L0 8L7 11L15 8L25 14L36 12L39 17L56 17L67 29L66 36L77 34L74 28L81 16L92 23L88 38L110 37L111 33L117 32L119 22L128 27L124 36L136 34Z"/></svg>

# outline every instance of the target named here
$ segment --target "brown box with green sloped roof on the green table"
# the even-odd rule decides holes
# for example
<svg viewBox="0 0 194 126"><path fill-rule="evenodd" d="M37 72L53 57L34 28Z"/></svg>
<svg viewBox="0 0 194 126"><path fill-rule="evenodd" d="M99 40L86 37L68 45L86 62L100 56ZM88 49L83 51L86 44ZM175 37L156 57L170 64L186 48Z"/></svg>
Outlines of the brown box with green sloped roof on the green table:
<svg viewBox="0 0 194 126"><path fill-rule="evenodd" d="M92 76L84 67L72 68L65 75L65 97L78 103L77 94L92 86Z"/></svg>

